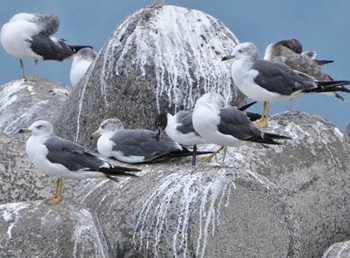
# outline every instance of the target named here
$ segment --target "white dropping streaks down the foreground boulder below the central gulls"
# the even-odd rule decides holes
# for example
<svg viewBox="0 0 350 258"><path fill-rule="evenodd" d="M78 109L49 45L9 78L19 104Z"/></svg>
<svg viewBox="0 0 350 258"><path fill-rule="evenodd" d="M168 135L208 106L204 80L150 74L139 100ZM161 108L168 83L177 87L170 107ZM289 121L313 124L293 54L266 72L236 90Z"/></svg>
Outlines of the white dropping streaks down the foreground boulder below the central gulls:
<svg viewBox="0 0 350 258"><path fill-rule="evenodd" d="M225 170L218 171L215 178L205 174L189 174L179 172L160 178L157 191L141 206L133 234L134 245L139 250L154 250L159 256L159 248L168 216L174 216L172 203L178 203L178 219L173 231L173 256L189 255L188 246L191 223L194 223L194 213L198 212L199 236L195 247L196 256L204 257L208 237L213 236L219 224L220 210L228 205L229 195L234 184L229 180ZM202 185L203 187L196 187ZM224 202L226 199L226 203ZM199 207L199 208L198 208ZM169 230L169 229L167 229Z"/></svg>

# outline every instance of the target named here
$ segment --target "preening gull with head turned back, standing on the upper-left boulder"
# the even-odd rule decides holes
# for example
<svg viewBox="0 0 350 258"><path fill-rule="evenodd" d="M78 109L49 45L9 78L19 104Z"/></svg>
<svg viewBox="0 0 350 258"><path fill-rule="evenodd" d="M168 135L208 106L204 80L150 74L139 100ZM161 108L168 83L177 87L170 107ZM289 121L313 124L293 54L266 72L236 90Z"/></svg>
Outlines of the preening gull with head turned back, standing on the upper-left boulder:
<svg viewBox="0 0 350 258"><path fill-rule="evenodd" d="M1 28L0 42L7 53L19 59L22 76L23 60L34 58L37 79L39 60L63 61L71 57L80 48L87 46L67 45L64 40L52 35L57 32L59 19L52 13L18 13Z"/></svg>

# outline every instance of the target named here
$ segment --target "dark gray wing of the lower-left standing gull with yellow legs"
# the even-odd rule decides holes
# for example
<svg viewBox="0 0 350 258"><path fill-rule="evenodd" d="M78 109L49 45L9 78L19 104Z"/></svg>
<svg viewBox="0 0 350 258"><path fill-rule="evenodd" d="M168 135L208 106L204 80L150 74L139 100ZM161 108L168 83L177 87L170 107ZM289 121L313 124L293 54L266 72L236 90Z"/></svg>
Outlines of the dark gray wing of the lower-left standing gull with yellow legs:
<svg viewBox="0 0 350 258"><path fill-rule="evenodd" d="M79 169L99 171L104 164L102 158L94 152L88 151L81 145L62 139L57 136L50 137L45 143L49 153L46 155L51 163L59 163L70 171Z"/></svg>

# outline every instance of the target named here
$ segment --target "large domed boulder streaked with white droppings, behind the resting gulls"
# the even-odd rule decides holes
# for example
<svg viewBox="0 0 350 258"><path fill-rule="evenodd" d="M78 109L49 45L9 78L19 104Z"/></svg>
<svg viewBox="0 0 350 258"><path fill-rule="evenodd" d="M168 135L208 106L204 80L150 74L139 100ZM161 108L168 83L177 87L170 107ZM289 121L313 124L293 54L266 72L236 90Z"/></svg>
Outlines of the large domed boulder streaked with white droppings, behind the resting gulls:
<svg viewBox="0 0 350 258"><path fill-rule="evenodd" d="M160 110L190 109L204 92L241 105L230 63L238 40L201 11L154 5L127 17L112 33L87 75L56 117L57 132L87 142L105 118L127 128L153 128ZM72 135L72 132L74 134Z"/></svg>

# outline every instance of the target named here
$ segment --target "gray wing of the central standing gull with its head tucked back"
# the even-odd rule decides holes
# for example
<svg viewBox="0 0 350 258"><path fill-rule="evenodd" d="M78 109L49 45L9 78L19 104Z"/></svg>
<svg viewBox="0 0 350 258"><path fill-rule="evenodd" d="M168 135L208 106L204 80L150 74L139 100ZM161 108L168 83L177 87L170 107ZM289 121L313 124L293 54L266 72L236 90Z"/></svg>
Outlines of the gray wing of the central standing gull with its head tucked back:
<svg viewBox="0 0 350 258"><path fill-rule="evenodd" d="M233 107L220 110L219 132L229 134L240 140L261 138L262 132L253 125L247 116Z"/></svg>

